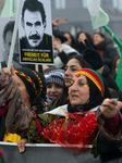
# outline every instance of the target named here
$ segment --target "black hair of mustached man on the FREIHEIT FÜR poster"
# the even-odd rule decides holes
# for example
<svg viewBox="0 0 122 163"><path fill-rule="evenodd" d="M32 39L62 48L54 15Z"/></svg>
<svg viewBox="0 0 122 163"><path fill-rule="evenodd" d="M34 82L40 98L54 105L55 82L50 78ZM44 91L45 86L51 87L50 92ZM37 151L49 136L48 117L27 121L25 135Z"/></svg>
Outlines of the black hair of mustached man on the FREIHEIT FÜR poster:
<svg viewBox="0 0 122 163"><path fill-rule="evenodd" d="M44 9L44 4L38 0L25 0L22 9L22 21L24 22L24 13L25 10L30 12L39 11L42 17L42 23L46 22L46 13Z"/></svg>

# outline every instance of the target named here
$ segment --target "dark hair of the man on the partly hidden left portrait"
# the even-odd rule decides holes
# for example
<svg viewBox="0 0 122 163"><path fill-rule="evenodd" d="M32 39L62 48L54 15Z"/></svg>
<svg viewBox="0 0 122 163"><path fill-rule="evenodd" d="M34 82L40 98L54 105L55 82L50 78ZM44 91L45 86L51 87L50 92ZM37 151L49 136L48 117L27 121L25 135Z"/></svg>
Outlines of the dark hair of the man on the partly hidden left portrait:
<svg viewBox="0 0 122 163"><path fill-rule="evenodd" d="M4 29L3 29L3 41L5 41L5 35L8 32L12 32L13 33L13 28L14 28L14 21L10 21L5 24Z"/></svg>

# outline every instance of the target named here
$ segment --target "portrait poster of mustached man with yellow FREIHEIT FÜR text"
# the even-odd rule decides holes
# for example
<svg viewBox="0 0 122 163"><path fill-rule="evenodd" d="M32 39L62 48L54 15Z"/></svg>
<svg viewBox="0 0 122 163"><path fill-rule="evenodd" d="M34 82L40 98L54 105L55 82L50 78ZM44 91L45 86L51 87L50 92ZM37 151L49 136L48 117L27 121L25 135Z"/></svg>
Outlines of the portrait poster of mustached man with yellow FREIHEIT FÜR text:
<svg viewBox="0 0 122 163"><path fill-rule="evenodd" d="M51 28L50 0L24 0L19 25L21 62L53 62Z"/></svg>

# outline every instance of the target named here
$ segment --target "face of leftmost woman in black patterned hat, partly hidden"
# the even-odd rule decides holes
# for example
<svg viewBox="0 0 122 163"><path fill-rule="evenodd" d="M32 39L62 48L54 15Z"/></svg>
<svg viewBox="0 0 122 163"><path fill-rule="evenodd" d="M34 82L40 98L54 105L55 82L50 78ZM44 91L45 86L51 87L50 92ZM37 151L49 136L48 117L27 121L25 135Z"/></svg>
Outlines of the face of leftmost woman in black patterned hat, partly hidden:
<svg viewBox="0 0 122 163"><path fill-rule="evenodd" d="M19 88L21 90L22 98L23 98L25 104L29 108L30 106L30 100L29 100L29 95L26 90L25 84L23 83L23 80L19 76L16 76L16 78L17 78L17 85L19 85Z"/></svg>

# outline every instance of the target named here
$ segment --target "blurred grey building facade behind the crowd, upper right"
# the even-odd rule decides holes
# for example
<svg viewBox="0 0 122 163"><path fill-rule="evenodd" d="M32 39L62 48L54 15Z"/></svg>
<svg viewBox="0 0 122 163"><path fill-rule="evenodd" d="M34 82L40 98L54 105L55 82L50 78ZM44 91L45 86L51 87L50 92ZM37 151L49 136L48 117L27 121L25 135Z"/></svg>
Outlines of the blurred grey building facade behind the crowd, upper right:
<svg viewBox="0 0 122 163"><path fill-rule="evenodd" d="M108 26L117 37L122 40L122 0L101 0L101 8L109 15ZM66 18L68 24L59 26L60 30L69 30L72 35L83 30L94 34L96 30L106 33L98 28L93 30L89 13L85 0L51 0L52 20L57 17ZM107 34L107 37L110 37Z"/></svg>

